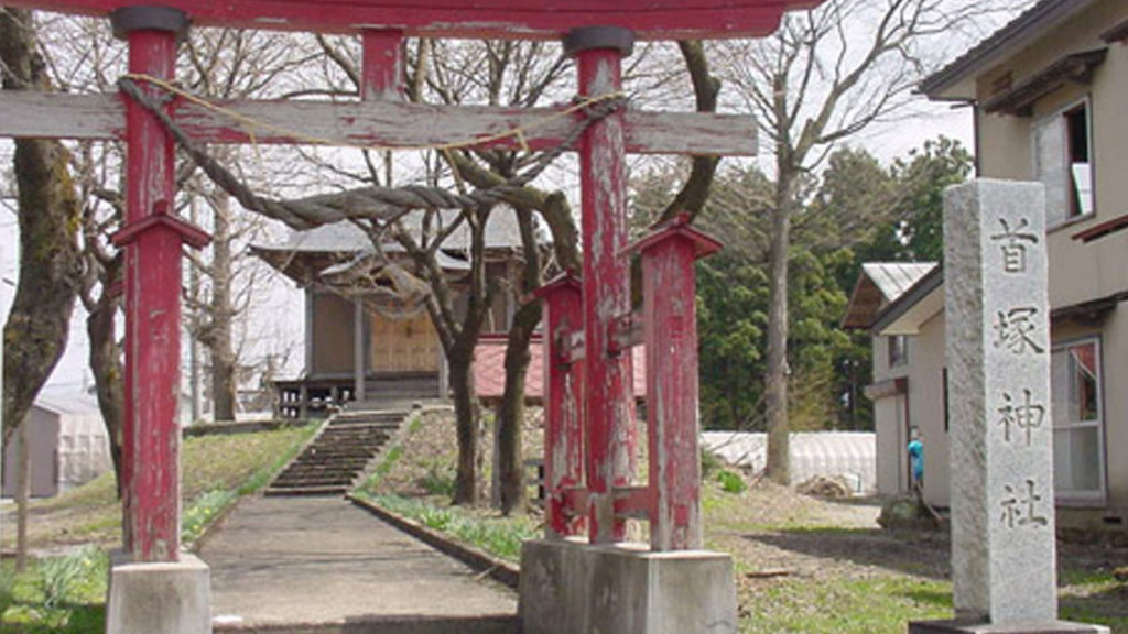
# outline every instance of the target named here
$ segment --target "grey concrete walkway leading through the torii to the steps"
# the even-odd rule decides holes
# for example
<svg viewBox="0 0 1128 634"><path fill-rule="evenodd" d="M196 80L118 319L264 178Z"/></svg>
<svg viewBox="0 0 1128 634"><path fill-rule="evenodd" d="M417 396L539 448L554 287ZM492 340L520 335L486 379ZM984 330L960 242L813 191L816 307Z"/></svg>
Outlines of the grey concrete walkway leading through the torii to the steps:
<svg viewBox="0 0 1128 634"><path fill-rule="evenodd" d="M217 631L517 633L517 596L336 497L248 497L200 552Z"/></svg>

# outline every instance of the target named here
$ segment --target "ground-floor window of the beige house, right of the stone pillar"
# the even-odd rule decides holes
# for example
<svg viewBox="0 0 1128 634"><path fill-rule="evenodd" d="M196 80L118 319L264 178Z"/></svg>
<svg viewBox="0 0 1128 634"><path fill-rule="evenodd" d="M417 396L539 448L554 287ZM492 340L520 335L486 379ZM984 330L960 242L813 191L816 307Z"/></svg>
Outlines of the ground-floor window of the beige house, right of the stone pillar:
<svg viewBox="0 0 1128 634"><path fill-rule="evenodd" d="M1054 395L1054 485L1059 502L1104 500L1101 346L1089 338L1056 346L1050 356Z"/></svg>

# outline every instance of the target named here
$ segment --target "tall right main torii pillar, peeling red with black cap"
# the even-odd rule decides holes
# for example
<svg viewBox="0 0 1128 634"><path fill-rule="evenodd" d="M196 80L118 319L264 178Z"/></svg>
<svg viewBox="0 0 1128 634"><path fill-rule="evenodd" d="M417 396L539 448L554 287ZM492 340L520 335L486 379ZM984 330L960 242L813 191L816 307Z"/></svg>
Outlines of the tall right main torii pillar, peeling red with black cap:
<svg viewBox="0 0 1128 634"><path fill-rule="evenodd" d="M576 59L580 96L623 90L622 59L634 50L634 34L619 27L584 27L564 38ZM626 538L626 521L615 517L615 487L631 484L636 431L629 350L611 349L611 328L631 311L627 245L626 147L623 112L593 123L580 140L583 236L584 421L592 544Z"/></svg>

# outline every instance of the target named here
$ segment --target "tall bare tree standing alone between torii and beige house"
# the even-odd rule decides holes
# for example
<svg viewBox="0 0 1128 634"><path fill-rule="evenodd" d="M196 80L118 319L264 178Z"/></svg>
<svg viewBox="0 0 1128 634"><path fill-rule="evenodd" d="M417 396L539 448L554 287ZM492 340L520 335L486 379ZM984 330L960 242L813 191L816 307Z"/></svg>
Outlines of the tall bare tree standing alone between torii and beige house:
<svg viewBox="0 0 1128 634"><path fill-rule="evenodd" d="M722 74L757 116L775 159L766 211L770 308L766 410L769 477L790 479L787 424L787 266L803 177L836 143L876 122L914 113L913 91L936 52L936 36L972 17L1005 10L951 0L827 0L784 17L770 37L726 43Z"/></svg>

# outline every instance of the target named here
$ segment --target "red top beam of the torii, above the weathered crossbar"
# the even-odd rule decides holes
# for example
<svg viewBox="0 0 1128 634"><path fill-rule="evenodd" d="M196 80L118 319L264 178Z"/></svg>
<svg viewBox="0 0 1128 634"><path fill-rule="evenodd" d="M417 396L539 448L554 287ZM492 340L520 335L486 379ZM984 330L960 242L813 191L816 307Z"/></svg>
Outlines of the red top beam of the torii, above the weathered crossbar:
<svg viewBox="0 0 1128 634"><path fill-rule="evenodd" d="M106 16L129 0L7 0L8 6ZM618 26L641 39L755 37L775 30L787 9L818 0L161 0L192 24L272 30L356 33L395 28L407 36L558 39L573 28Z"/></svg>

